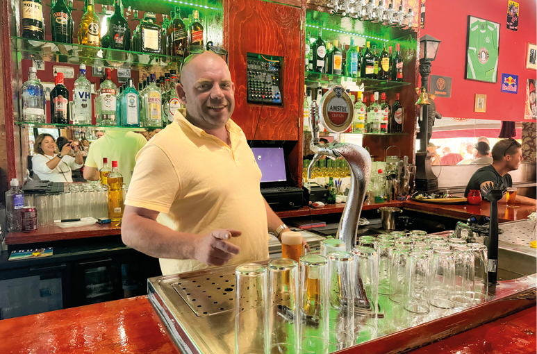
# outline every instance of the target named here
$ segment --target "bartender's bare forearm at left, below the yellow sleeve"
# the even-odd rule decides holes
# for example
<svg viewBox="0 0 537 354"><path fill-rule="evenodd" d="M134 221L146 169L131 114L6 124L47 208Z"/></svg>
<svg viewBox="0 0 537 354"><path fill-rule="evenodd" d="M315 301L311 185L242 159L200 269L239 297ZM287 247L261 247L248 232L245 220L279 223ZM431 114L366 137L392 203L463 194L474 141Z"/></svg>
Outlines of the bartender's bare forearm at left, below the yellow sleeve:
<svg viewBox="0 0 537 354"><path fill-rule="evenodd" d="M127 215L122 220L124 244L156 258L188 260L194 258L195 234L179 233L158 222L139 215Z"/></svg>

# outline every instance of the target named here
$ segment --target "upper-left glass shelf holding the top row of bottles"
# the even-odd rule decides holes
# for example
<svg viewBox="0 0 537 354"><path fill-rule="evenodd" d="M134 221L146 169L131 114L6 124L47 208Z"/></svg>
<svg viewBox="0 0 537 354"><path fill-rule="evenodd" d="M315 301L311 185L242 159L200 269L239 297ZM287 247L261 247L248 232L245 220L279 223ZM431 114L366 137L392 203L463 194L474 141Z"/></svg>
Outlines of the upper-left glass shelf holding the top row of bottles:
<svg viewBox="0 0 537 354"><path fill-rule="evenodd" d="M96 67L141 69L157 66L166 69L167 66L177 65L182 60L182 57L88 47L81 44L65 44L47 40L28 40L22 37L11 37L11 46L13 51L22 56L22 59L63 62L74 65L85 64Z"/></svg>

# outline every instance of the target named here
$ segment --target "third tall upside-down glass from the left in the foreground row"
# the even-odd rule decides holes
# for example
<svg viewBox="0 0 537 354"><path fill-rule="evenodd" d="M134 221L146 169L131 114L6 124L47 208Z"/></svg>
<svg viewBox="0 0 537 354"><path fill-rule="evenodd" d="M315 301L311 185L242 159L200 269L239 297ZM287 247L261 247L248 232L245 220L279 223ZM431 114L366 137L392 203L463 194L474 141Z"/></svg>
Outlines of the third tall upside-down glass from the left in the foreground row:
<svg viewBox="0 0 537 354"><path fill-rule="evenodd" d="M307 254L300 258L299 266L299 351L328 353L328 260L322 255Z"/></svg>

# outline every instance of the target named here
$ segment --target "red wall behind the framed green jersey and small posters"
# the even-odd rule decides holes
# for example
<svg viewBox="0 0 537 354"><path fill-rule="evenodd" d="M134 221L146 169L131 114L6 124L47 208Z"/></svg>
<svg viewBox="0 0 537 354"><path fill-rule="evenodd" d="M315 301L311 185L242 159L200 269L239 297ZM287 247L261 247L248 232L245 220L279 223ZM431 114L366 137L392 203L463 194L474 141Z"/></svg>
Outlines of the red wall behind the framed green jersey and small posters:
<svg viewBox="0 0 537 354"><path fill-rule="evenodd" d="M536 71L525 69L527 43L536 43L535 0L518 0L520 17L518 31L506 28L507 0L428 0L425 28L441 40L433 61L431 74L452 78L452 96L437 98L436 109L444 117L524 121L527 78L536 78ZM497 83L465 80L466 28L468 15L500 24ZM518 93L501 92L502 73L518 75ZM486 113L474 112L475 94L486 94Z"/></svg>

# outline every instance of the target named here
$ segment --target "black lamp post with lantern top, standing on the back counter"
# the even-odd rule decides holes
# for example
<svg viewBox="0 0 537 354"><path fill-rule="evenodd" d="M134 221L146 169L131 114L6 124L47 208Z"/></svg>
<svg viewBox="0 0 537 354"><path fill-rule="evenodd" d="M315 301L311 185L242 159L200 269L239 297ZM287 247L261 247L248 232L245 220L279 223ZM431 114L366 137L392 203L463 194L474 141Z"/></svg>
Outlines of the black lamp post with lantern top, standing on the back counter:
<svg viewBox="0 0 537 354"><path fill-rule="evenodd" d="M420 38L420 75L422 76L422 87L424 91L429 90L429 74L431 74L431 62L436 59L440 40L431 35L424 35ZM421 91L421 90L420 90ZM420 103L416 103L420 104ZM438 178L433 174L431 168L432 154L427 151L428 145L428 105L421 105L420 119L420 150L416 153L416 174L415 187L418 190L431 191L438 189Z"/></svg>

